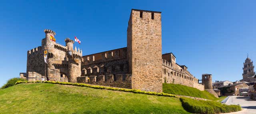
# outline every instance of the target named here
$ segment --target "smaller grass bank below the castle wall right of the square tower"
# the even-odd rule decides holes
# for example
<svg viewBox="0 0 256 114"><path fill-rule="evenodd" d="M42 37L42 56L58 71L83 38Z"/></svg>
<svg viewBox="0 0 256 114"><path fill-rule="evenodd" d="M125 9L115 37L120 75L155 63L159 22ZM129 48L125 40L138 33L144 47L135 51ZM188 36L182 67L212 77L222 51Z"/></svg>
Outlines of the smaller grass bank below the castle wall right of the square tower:
<svg viewBox="0 0 256 114"><path fill-rule="evenodd" d="M163 92L177 95L194 96L198 98L205 98L209 100L218 100L214 95L210 94L206 90L200 91L197 88L179 84L167 84L163 83Z"/></svg>

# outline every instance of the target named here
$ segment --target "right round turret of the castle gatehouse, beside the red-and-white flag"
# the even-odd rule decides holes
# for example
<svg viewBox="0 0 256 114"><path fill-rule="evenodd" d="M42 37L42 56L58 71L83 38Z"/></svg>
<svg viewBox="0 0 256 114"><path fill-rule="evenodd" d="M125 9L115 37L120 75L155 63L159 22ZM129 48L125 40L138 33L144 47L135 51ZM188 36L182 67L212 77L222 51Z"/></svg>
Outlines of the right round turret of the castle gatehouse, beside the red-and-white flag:
<svg viewBox="0 0 256 114"><path fill-rule="evenodd" d="M72 39L66 38L66 47L68 47L68 82L76 83L77 77L81 76L81 60L82 51L73 50L74 41Z"/></svg>

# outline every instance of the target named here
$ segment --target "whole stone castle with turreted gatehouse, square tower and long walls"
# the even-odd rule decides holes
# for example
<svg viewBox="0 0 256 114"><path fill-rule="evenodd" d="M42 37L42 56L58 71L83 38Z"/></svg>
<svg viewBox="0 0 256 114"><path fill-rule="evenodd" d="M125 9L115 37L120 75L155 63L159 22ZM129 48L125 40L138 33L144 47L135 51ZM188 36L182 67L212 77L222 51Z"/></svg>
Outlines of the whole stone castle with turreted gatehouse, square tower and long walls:
<svg viewBox="0 0 256 114"><path fill-rule="evenodd" d="M185 65L178 65L173 53L162 55L161 12L132 9L127 28L127 47L82 56L82 49L50 40L56 35L44 30L42 46L28 51L27 71L20 77L37 81L89 83L162 92L162 83L174 83L204 90ZM48 50L47 64L44 50Z"/></svg>

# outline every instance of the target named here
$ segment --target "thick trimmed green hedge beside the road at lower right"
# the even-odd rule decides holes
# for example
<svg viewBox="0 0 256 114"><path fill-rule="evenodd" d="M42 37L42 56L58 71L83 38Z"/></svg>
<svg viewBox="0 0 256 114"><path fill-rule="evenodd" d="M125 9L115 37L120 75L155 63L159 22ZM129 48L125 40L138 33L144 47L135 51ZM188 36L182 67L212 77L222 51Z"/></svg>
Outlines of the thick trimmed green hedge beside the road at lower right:
<svg viewBox="0 0 256 114"><path fill-rule="evenodd" d="M182 102L183 108L190 113L218 114L241 110L241 107L238 105L226 105L209 100L194 100L191 98L180 97L180 101Z"/></svg>

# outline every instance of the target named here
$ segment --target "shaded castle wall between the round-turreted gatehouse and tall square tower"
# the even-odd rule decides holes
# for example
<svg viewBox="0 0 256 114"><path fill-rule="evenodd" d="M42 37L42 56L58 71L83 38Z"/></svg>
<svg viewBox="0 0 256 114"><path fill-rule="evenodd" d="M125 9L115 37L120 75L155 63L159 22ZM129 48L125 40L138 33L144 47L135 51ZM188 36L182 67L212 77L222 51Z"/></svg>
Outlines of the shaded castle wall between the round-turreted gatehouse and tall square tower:
<svg viewBox="0 0 256 114"><path fill-rule="evenodd" d="M82 76L127 74L126 50L125 47L83 56Z"/></svg>

